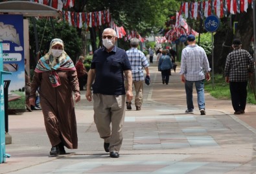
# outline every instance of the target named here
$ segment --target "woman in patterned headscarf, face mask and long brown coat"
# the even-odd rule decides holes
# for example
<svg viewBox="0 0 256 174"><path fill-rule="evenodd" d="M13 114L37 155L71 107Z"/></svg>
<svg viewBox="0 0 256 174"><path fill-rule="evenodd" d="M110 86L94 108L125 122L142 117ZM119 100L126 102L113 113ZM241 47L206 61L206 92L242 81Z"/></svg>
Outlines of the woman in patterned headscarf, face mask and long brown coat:
<svg viewBox="0 0 256 174"><path fill-rule="evenodd" d="M61 39L52 39L49 52L36 65L31 83L30 104L40 93L45 129L51 142L50 155L65 154L64 146L77 149L76 116L73 101L80 101L78 78L73 61Z"/></svg>

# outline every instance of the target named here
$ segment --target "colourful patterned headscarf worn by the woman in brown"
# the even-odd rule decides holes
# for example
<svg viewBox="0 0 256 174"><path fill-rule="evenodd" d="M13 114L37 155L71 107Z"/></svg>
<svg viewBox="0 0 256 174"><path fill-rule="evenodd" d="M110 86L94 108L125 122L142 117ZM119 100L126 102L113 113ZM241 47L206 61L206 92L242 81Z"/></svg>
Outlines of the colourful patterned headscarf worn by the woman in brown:
<svg viewBox="0 0 256 174"><path fill-rule="evenodd" d="M60 55L58 58L52 56L52 47L54 45L62 45L63 52L62 55ZM50 44L50 49L45 56L41 57L38 61L38 64L36 65L35 72L49 72L49 80L52 83L52 87L58 87L61 85L60 78L58 76L58 73L56 71L62 70L62 71L75 71L75 65L71 58L67 55L67 53L64 51L64 42L62 39L52 39Z"/></svg>

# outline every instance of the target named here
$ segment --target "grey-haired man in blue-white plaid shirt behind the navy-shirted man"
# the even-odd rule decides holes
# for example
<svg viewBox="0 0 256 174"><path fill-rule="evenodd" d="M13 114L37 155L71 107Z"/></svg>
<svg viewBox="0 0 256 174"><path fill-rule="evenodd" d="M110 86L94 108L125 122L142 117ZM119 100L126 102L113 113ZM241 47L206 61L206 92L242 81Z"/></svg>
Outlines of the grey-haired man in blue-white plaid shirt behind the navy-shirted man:
<svg viewBox="0 0 256 174"><path fill-rule="evenodd" d="M143 82L144 74L143 68L146 71L146 76L150 76L148 71L149 63L146 60L146 56L141 50L138 50L139 39L132 38L130 40L131 49L126 51L130 64L132 66L132 83L135 88L135 107L136 111L141 110L141 105L143 103ZM126 102L126 109L132 109L132 102Z"/></svg>

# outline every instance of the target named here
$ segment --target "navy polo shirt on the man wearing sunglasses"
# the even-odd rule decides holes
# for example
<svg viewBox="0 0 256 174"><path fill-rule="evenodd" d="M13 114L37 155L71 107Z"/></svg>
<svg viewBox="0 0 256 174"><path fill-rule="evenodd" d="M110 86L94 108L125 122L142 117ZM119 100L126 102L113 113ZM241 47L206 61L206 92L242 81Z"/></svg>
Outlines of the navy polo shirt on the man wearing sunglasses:
<svg viewBox="0 0 256 174"><path fill-rule="evenodd" d="M111 52L107 52L104 47L95 50L91 69L95 69L93 93L125 94L124 71L132 69L125 50L118 47L113 47Z"/></svg>

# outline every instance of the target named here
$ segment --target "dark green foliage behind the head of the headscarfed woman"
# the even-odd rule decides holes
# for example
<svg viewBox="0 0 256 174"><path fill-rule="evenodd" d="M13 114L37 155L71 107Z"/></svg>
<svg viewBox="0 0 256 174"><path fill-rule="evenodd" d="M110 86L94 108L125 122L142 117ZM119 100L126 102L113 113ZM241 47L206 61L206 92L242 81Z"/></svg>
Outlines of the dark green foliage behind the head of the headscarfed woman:
<svg viewBox="0 0 256 174"><path fill-rule="evenodd" d="M75 27L71 27L66 22L57 23L57 21L51 22L47 18L38 19L36 21L36 30L38 34L39 51L40 56L43 56L45 52L48 52L51 40L54 38L60 38L64 41L64 50L75 62L76 58L81 54L82 39L78 36ZM54 36L55 34L55 36ZM36 40L34 33L34 26L30 21L29 24L29 39L30 39L30 58L34 61L30 61L35 65L37 61L36 52Z"/></svg>

